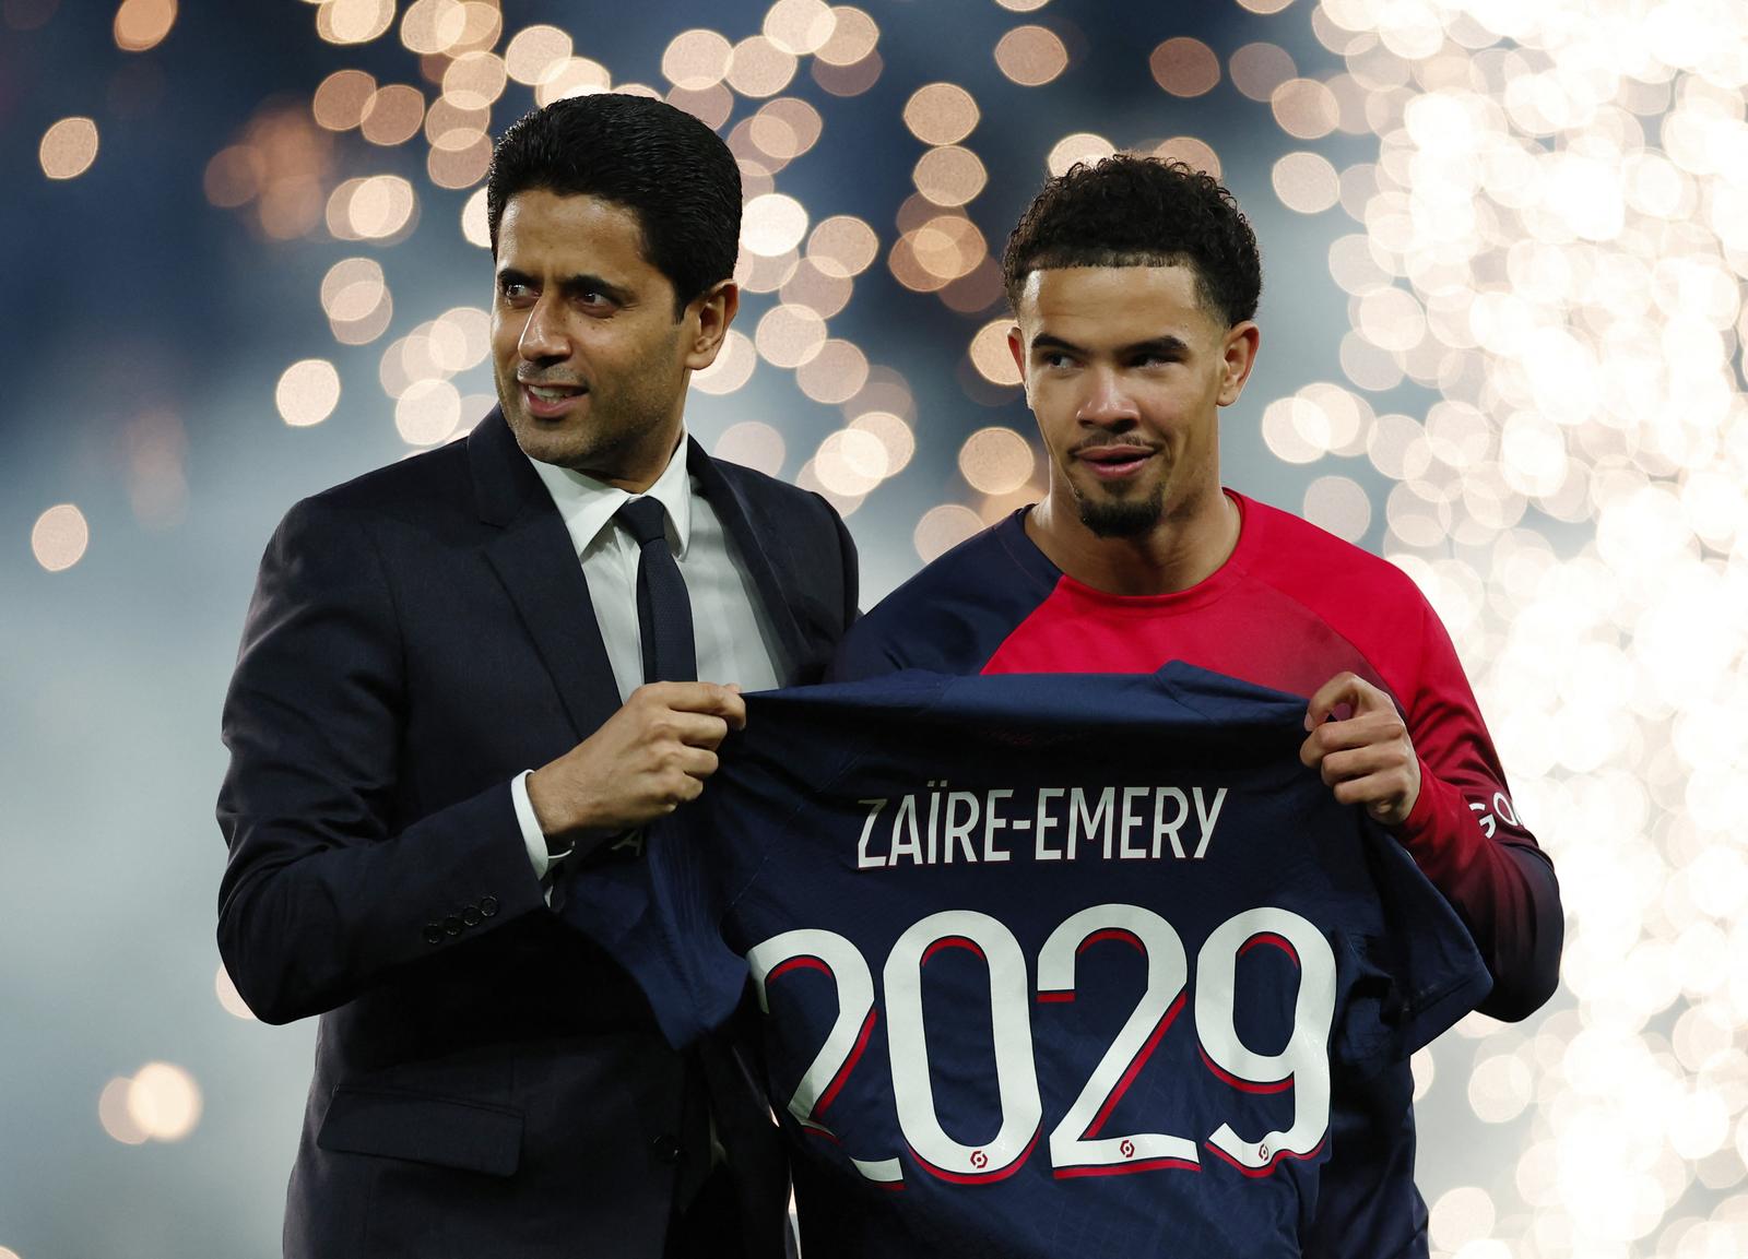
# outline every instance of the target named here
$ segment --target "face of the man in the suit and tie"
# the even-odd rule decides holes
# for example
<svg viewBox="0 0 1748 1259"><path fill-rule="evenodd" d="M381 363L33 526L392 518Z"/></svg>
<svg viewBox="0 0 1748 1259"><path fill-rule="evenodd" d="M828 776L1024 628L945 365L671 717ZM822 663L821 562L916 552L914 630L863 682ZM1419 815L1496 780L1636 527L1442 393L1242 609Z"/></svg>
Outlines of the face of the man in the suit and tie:
<svg viewBox="0 0 1748 1259"><path fill-rule="evenodd" d="M631 210L544 189L509 199L491 356L503 416L530 458L638 491L661 475L690 372L715 358L734 306L729 286L711 337L699 327L710 302L675 321L673 299Z"/></svg>

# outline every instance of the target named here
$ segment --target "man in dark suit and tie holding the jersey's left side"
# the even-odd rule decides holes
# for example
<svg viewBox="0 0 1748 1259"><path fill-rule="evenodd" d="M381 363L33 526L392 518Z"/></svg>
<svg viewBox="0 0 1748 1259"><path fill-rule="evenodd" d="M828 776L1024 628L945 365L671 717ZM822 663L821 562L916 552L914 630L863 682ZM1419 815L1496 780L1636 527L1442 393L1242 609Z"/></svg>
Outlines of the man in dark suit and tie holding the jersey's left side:
<svg viewBox="0 0 1748 1259"><path fill-rule="evenodd" d="M855 548L685 437L738 306L708 127L554 103L488 206L500 407L290 510L225 702L220 952L262 1020L322 1016L285 1254L781 1254L750 1074L552 905L706 789L739 686L818 674Z"/></svg>

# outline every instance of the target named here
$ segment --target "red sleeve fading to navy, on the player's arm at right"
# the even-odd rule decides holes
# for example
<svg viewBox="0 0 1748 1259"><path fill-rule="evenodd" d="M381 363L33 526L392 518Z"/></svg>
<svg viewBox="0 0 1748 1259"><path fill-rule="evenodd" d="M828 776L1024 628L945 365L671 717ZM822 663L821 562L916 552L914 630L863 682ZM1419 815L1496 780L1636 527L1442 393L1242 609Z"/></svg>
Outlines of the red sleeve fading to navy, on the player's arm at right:
<svg viewBox="0 0 1748 1259"><path fill-rule="evenodd" d="M1468 924L1493 973L1481 1004L1495 1018L1519 1020L1559 983L1564 912L1554 864L1519 821L1481 705L1456 648L1418 588L1419 658L1414 644L1376 660L1407 711L1421 763L1421 791L1397 838ZM1398 657L1391 660L1390 657Z"/></svg>

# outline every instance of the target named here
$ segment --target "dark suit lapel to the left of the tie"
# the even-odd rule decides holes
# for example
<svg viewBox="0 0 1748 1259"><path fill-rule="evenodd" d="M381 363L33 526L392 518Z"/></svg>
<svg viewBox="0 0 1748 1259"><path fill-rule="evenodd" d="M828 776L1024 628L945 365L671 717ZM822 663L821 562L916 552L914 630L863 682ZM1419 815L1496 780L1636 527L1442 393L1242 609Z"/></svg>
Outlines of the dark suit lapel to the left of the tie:
<svg viewBox="0 0 1748 1259"><path fill-rule="evenodd" d="M579 739L619 709L589 583L565 520L496 407L467 438L486 559L521 613Z"/></svg>

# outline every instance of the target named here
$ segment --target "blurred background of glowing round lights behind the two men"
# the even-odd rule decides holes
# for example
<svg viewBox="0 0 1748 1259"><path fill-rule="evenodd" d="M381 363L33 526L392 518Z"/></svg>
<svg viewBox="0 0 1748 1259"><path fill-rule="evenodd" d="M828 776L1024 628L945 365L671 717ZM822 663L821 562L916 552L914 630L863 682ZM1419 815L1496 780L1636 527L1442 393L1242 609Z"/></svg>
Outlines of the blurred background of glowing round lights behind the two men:
<svg viewBox="0 0 1748 1259"><path fill-rule="evenodd" d="M1739 0L0 0L0 1259L276 1254L315 1029L212 939L255 562L486 410L489 136L603 87L739 157L689 423L867 602L1038 494L1045 171L1220 173L1225 477L1419 581L1564 889L1549 1008L1416 1060L1435 1254L1748 1254L1745 84Z"/></svg>

